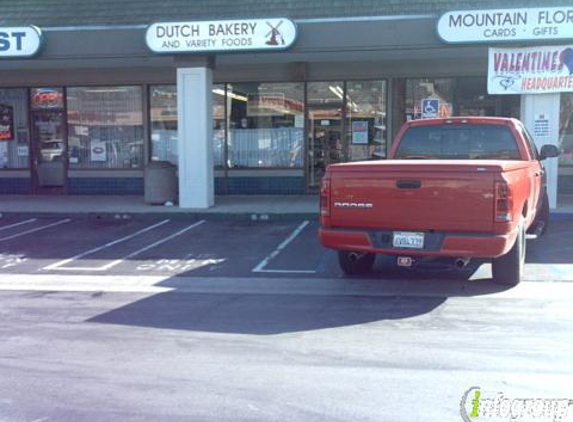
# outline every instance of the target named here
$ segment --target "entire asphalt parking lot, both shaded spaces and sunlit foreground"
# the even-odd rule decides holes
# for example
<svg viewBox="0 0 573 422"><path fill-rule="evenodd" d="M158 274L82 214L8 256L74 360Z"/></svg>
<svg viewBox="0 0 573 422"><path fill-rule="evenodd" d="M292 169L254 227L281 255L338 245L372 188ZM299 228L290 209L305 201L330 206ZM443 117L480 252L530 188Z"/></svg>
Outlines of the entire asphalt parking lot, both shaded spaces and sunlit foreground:
<svg viewBox="0 0 573 422"><path fill-rule="evenodd" d="M472 386L571 397L573 221L515 288L480 262L345 278L317 228L0 219L0 421L450 421Z"/></svg>

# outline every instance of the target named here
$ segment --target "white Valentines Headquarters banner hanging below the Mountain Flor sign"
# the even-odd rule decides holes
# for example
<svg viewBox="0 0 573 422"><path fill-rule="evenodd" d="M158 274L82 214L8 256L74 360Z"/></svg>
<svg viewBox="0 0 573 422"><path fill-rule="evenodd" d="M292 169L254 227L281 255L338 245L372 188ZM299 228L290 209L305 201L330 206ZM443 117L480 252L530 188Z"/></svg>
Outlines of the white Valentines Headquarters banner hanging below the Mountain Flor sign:
<svg viewBox="0 0 573 422"><path fill-rule="evenodd" d="M490 48L489 94L573 92L573 45Z"/></svg>

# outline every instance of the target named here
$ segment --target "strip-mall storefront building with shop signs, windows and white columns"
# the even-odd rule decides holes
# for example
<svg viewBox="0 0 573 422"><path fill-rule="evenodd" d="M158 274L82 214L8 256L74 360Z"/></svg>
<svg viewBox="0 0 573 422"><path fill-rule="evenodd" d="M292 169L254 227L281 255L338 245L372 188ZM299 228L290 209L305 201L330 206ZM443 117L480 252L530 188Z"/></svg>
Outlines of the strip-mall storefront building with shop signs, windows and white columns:
<svg viewBox="0 0 573 422"><path fill-rule="evenodd" d="M521 118L564 152L552 206L573 194L565 2L13 3L0 194L139 195L156 160L178 167L185 207L313 194L328 164L383 159L405 121L459 115Z"/></svg>

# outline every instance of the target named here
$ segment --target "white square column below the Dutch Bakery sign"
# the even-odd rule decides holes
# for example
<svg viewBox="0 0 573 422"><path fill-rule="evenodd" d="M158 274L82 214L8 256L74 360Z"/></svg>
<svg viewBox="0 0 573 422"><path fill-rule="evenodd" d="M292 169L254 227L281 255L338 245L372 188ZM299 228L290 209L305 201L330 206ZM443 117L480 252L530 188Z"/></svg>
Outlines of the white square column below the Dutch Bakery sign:
<svg viewBox="0 0 573 422"><path fill-rule="evenodd" d="M177 69L181 208L206 209L215 202L211 89L211 69Z"/></svg>

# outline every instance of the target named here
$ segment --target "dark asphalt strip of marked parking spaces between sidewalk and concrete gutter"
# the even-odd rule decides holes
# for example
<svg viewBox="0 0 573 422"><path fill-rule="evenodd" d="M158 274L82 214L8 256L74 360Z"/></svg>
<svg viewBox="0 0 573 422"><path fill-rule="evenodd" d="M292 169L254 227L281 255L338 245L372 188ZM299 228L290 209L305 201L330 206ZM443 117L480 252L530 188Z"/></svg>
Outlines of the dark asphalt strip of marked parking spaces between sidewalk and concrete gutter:
<svg viewBox="0 0 573 422"><path fill-rule="evenodd" d="M316 221L177 219L0 219L0 274L164 275L185 277L344 277L322 248ZM526 281L573 282L573 221L553 222L528 242ZM449 262L398 269L379 257L368 278L491 277L487 263L464 271Z"/></svg>

